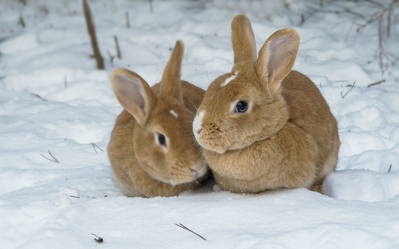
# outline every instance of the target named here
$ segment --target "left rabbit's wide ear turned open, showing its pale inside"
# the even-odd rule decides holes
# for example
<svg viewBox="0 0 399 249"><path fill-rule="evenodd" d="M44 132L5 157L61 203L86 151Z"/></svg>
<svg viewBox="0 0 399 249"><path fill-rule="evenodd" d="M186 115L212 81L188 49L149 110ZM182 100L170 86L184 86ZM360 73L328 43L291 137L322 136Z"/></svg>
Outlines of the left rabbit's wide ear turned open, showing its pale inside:
<svg viewBox="0 0 399 249"><path fill-rule="evenodd" d="M126 69L115 69L110 79L120 105L133 115L139 125L143 125L156 104L156 96L148 83Z"/></svg>

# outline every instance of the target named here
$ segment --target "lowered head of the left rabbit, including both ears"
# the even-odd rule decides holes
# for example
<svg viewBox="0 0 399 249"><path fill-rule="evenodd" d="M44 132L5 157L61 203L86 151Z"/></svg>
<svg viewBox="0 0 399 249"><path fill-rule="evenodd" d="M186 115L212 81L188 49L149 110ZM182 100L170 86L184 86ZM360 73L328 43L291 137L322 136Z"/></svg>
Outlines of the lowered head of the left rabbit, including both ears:
<svg viewBox="0 0 399 249"><path fill-rule="evenodd" d="M183 102L183 52L178 40L157 91L126 69L111 75L115 96L136 120L131 141L136 159L152 178L172 185L194 181L207 171L191 129L194 115Z"/></svg>

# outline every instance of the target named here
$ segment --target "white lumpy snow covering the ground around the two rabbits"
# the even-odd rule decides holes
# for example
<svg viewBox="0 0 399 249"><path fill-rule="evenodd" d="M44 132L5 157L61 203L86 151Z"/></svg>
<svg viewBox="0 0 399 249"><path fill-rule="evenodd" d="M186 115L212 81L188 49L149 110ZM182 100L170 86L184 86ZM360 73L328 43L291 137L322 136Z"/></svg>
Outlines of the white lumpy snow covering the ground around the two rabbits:
<svg viewBox="0 0 399 249"><path fill-rule="evenodd" d="M399 247L399 88L374 59L377 24L356 33L348 16L316 13L298 26L299 0L154 0L153 13L144 0L88 1L105 59L99 71L81 1L26 2L0 1L1 248ZM123 196L105 151L122 111L110 73L123 67L156 84L182 39L182 79L206 89L231 71L230 23L239 13L258 49L278 29L300 35L294 70L320 88L342 141L326 195L233 194L208 181L170 198Z"/></svg>

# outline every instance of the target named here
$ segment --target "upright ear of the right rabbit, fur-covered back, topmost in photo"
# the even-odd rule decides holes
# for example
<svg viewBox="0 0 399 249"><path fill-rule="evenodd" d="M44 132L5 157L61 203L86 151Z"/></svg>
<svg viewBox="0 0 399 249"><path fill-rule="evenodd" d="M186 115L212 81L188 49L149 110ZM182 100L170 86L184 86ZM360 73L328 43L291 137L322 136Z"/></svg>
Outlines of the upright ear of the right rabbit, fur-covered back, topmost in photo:
<svg viewBox="0 0 399 249"><path fill-rule="evenodd" d="M233 44L234 64L241 61L256 61L255 36L247 16L239 14L231 22L231 43Z"/></svg>

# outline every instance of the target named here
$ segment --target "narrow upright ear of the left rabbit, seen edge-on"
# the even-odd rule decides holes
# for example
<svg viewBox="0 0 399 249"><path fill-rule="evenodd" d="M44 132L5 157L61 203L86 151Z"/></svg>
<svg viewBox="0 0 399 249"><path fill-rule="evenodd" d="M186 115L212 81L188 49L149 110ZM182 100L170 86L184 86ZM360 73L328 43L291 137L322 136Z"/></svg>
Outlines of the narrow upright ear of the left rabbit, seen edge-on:
<svg viewBox="0 0 399 249"><path fill-rule="evenodd" d="M184 43L182 40L176 41L176 45L170 55L168 64L162 74L160 82L160 92L183 102L182 83L180 81L180 67L182 65L184 53Z"/></svg>

